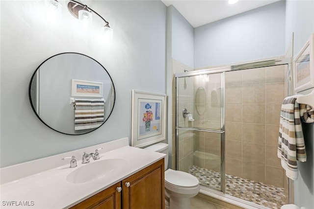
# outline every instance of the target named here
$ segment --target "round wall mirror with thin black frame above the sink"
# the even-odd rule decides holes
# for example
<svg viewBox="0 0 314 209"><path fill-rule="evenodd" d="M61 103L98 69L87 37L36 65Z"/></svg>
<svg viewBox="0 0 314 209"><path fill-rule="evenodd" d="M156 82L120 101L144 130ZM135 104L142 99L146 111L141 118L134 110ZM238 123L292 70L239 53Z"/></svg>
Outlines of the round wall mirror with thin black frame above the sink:
<svg viewBox="0 0 314 209"><path fill-rule="evenodd" d="M99 128L115 102L107 70L95 59L73 52L44 61L30 79L28 95L36 116L53 130L68 135Z"/></svg>

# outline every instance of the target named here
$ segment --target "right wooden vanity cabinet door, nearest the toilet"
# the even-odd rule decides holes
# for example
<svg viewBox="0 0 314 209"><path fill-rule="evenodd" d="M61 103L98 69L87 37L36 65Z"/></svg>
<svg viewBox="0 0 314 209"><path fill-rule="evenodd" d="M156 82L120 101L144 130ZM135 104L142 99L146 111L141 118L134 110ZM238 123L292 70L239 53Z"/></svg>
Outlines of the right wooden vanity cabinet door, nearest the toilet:
<svg viewBox="0 0 314 209"><path fill-rule="evenodd" d="M164 159L122 181L123 209L164 209Z"/></svg>

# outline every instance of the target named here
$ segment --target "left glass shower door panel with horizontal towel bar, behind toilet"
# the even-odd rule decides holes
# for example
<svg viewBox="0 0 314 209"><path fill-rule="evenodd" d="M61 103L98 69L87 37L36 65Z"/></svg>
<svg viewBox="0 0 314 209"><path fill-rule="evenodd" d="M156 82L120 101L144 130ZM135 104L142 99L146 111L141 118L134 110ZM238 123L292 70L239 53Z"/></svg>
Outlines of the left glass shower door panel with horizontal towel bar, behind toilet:
<svg viewBox="0 0 314 209"><path fill-rule="evenodd" d="M177 169L224 191L224 73L176 78Z"/></svg>

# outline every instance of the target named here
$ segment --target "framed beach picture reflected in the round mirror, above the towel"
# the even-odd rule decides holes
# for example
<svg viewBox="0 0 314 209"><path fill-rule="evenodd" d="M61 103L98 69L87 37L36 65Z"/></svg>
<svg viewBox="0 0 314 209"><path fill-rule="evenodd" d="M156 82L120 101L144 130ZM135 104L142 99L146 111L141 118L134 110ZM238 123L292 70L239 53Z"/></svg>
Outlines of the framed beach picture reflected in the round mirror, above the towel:
<svg viewBox="0 0 314 209"><path fill-rule="evenodd" d="M71 96L103 97L103 83L72 79Z"/></svg>

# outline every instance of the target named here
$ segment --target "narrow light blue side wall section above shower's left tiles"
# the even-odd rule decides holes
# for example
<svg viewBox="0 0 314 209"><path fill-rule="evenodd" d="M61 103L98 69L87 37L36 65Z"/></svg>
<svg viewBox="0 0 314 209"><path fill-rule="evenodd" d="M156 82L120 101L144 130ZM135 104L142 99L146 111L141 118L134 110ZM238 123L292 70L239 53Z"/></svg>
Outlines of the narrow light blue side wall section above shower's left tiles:
<svg viewBox="0 0 314 209"><path fill-rule="evenodd" d="M173 5L169 9L172 10L172 58L193 67L194 28Z"/></svg>

